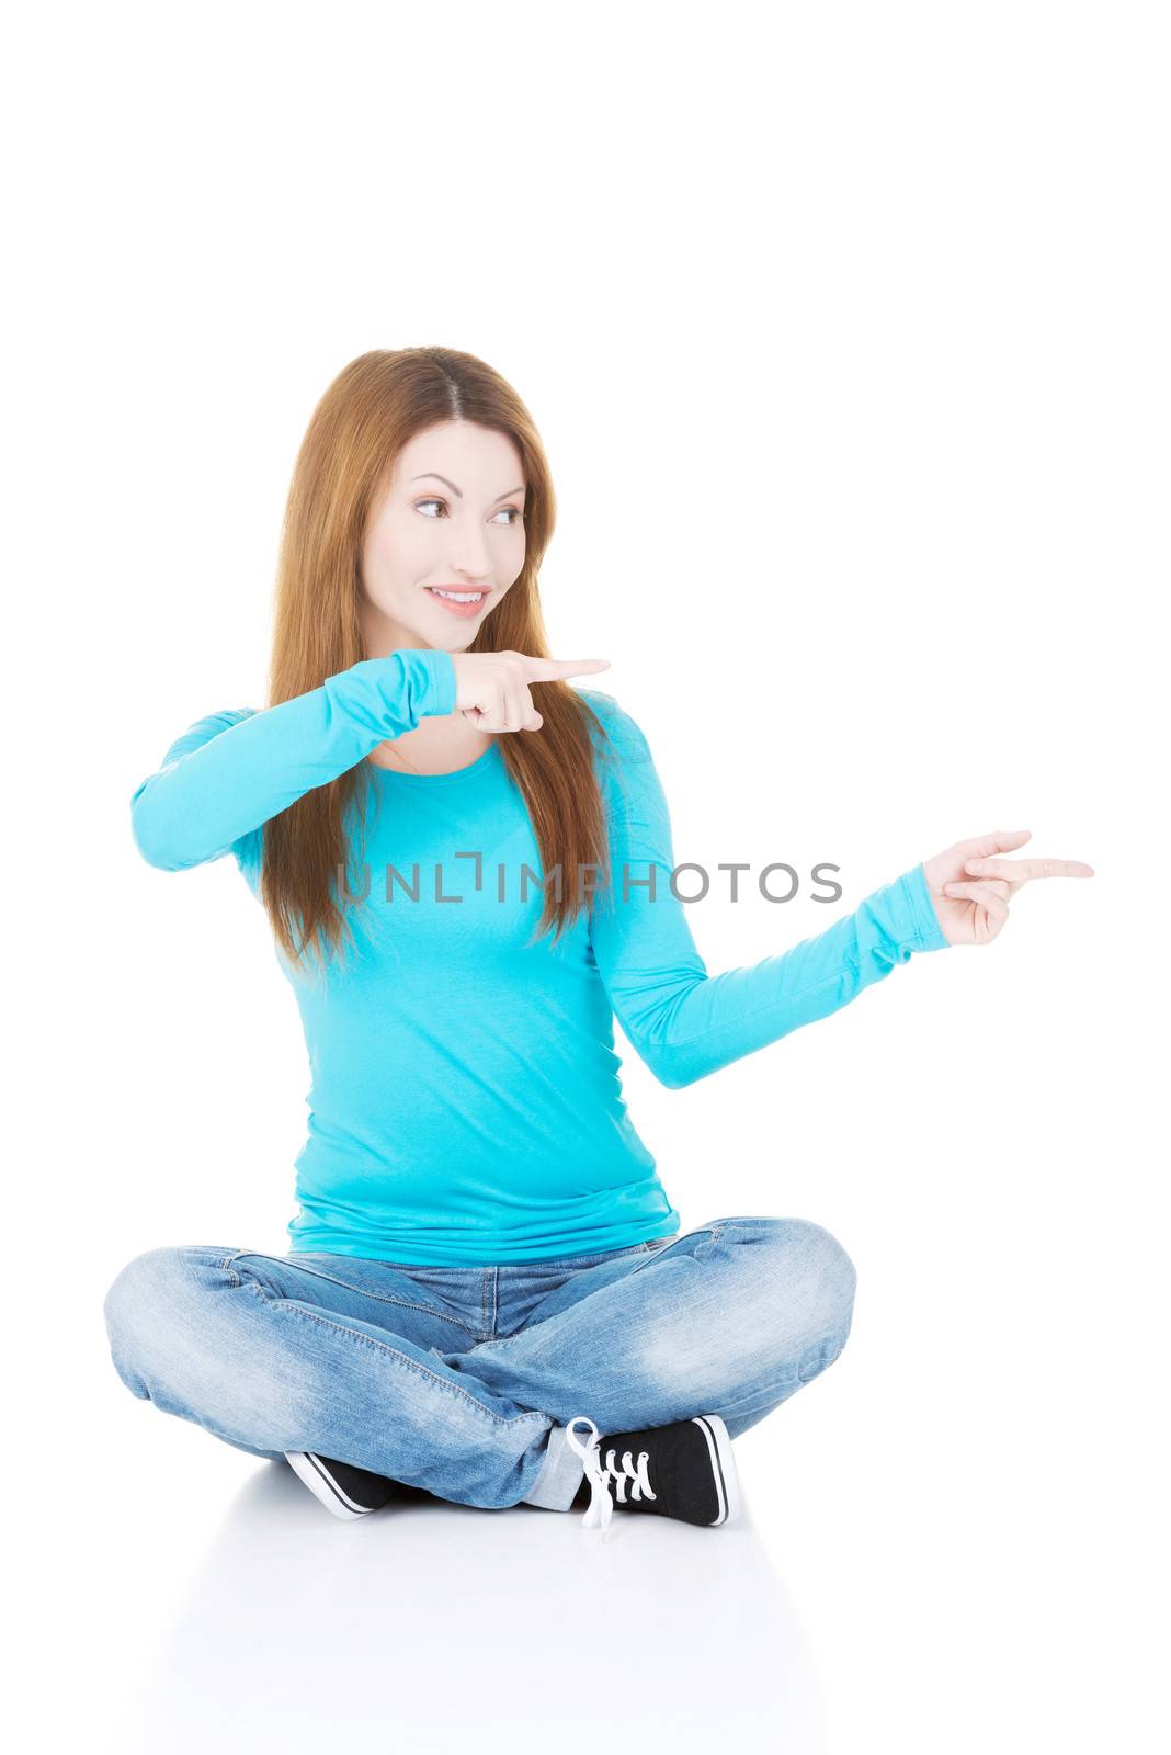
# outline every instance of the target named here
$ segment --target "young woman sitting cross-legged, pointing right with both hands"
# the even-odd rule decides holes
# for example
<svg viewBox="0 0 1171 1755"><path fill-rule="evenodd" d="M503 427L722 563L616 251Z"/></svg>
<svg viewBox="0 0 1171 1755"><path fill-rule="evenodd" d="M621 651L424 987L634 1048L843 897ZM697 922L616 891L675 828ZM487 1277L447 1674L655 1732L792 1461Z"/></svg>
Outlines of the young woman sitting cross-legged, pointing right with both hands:
<svg viewBox="0 0 1171 1755"><path fill-rule="evenodd" d="M817 937L710 976L647 739L556 660L549 465L442 347L354 360L284 526L270 706L198 720L133 793L161 870L231 853L312 1069L291 1251L160 1248L105 1320L135 1395L286 1457L338 1516L470 1506L736 1515L731 1439L833 1364L854 1264L820 1225L680 1230L622 1100L614 1014L668 1086L985 944L1029 832L957 842ZM586 1429L586 1441L578 1437Z"/></svg>

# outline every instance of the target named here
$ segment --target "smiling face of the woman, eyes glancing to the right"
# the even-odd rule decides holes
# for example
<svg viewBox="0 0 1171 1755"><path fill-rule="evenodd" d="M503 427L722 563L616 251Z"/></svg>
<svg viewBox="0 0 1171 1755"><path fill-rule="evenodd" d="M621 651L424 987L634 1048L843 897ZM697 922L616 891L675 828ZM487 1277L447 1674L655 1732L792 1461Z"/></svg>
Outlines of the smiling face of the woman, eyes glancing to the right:
<svg viewBox="0 0 1171 1755"><path fill-rule="evenodd" d="M512 439L473 421L428 426L400 453L361 555L366 653L465 651L524 567L524 465ZM480 591L470 605L433 593Z"/></svg>

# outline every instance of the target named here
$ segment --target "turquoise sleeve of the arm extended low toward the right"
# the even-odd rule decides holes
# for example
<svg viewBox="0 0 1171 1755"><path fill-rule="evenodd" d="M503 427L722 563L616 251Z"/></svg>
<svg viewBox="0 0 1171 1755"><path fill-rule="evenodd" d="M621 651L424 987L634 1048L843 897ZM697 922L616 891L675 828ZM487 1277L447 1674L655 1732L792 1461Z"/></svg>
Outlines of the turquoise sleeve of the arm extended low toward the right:
<svg viewBox="0 0 1171 1755"><path fill-rule="evenodd" d="M596 693L589 698L598 709L607 700ZM847 1006L915 951L948 946L917 865L817 937L710 976L685 904L671 893L671 825L647 739L615 704L603 723L617 755L605 788L614 906L598 897L591 944L622 1030L663 1085L678 1088L706 1078ZM647 888L652 874L654 900Z"/></svg>

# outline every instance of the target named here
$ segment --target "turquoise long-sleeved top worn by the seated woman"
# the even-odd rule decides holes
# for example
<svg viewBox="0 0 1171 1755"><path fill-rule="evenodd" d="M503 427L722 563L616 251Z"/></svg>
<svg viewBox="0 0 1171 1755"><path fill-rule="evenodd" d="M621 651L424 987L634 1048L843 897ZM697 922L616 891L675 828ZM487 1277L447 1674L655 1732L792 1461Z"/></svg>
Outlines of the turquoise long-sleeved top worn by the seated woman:
<svg viewBox="0 0 1171 1755"><path fill-rule="evenodd" d="M608 739L594 749L614 893L556 948L550 932L535 939L540 851L500 739L454 774L368 763L356 944L324 971L277 946L312 1076L291 1253L454 1267L673 1236L680 1214L622 1097L614 1018L678 1088L838 1011L915 951L947 948L917 865L815 937L708 974L671 893L647 739L610 695L580 693ZM258 897L270 818L454 707L451 655L401 649L280 706L209 714L137 786L135 844L161 870L231 855Z"/></svg>

